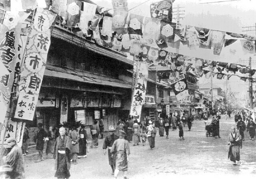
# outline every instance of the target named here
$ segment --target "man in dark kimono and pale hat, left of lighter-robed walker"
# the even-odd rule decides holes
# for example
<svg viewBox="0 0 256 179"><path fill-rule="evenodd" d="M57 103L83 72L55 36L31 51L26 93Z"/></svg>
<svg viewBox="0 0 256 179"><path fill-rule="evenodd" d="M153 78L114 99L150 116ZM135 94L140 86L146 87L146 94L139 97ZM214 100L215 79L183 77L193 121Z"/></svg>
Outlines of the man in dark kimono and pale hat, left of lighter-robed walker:
<svg viewBox="0 0 256 179"><path fill-rule="evenodd" d="M103 152L104 155L106 155L106 149L108 148L108 162L112 168L112 175L114 175L114 171L116 168L116 156L110 153L110 148L112 147L114 141L119 137L114 133L115 129L113 125L109 126L108 131L109 131L109 135L105 138L102 148L104 149L104 152Z"/></svg>

